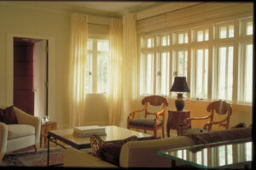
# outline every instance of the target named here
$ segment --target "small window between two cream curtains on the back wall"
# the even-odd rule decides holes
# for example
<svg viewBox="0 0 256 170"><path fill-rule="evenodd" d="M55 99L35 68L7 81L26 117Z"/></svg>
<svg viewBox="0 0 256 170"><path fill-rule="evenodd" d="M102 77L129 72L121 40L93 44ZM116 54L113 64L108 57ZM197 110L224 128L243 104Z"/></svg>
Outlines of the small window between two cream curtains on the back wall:
<svg viewBox="0 0 256 170"><path fill-rule="evenodd" d="M88 94L106 93L108 89L109 42L89 39L87 43L86 84Z"/></svg>

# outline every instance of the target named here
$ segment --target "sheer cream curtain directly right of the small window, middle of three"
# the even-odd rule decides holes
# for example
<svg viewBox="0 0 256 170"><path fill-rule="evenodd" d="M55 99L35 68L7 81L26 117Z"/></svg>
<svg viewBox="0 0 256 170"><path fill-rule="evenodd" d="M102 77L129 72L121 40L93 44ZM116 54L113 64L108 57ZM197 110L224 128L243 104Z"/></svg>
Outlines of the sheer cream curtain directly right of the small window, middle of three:
<svg viewBox="0 0 256 170"><path fill-rule="evenodd" d="M109 24L109 91L108 118L109 125L119 126L122 99L122 55L123 23L120 19L110 19Z"/></svg>

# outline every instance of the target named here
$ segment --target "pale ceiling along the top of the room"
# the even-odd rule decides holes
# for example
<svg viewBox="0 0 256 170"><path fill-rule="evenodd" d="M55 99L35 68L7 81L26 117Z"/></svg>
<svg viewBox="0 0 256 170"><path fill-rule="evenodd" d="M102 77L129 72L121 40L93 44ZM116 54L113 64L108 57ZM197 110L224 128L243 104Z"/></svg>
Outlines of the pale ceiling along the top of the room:
<svg viewBox="0 0 256 170"><path fill-rule="evenodd" d="M148 8L157 7L164 3L152 3L147 1L140 2L92 2L92 1L74 1L74 2L31 2L31 1L12 1L12 2L0 2L0 4L11 4L15 6L23 6L26 8L41 8L48 10L61 10L67 12L81 12L86 14L95 14L99 16L121 16L126 13L136 13Z"/></svg>

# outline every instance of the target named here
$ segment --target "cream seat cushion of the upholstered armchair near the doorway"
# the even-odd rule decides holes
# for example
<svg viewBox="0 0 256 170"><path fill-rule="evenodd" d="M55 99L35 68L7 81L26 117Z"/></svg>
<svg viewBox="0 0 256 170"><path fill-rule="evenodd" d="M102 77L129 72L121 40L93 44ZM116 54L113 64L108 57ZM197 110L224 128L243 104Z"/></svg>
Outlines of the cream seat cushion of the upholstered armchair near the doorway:
<svg viewBox="0 0 256 170"><path fill-rule="evenodd" d="M8 127L8 139L16 139L23 136L34 135L36 130L32 125L11 124Z"/></svg>

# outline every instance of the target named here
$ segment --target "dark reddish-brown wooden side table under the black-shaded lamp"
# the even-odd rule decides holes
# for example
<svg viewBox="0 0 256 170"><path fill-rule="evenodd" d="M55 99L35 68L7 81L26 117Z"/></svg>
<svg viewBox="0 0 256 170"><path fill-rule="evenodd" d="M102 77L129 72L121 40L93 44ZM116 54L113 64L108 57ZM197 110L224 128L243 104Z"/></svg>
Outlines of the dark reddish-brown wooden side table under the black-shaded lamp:
<svg viewBox="0 0 256 170"><path fill-rule="evenodd" d="M166 124L167 137L170 137L170 129L176 129L179 135L179 125L184 119L190 117L190 111L168 111L168 120Z"/></svg>

